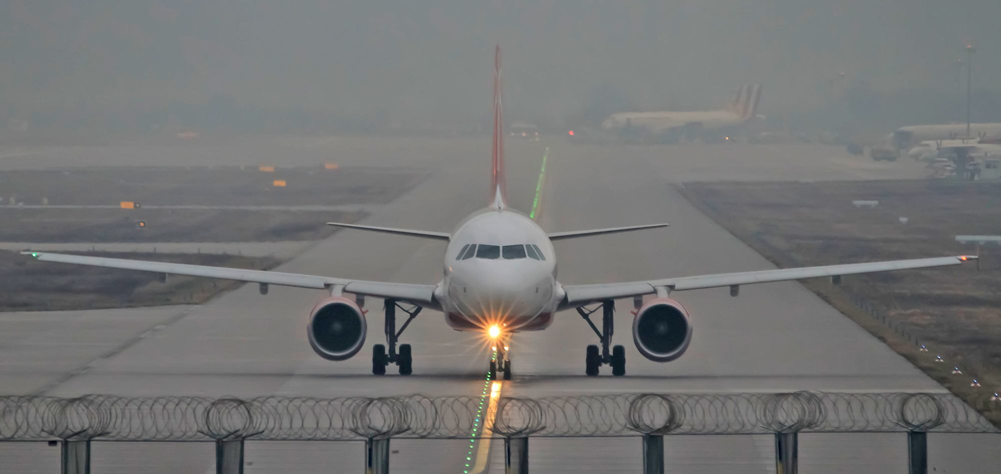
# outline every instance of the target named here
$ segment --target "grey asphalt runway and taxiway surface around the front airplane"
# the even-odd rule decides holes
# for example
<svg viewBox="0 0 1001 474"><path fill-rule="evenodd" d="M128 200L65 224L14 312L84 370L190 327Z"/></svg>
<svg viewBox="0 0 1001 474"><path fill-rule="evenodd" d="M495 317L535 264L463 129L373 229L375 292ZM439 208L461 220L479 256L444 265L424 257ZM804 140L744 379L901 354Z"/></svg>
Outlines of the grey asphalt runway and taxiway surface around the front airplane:
<svg viewBox="0 0 1001 474"><path fill-rule="evenodd" d="M313 165L331 157L342 164L425 167L434 170L431 178L362 223L450 231L486 202L488 143L488 137L311 138L268 146L176 147L173 153L132 145L57 148L32 151L25 155L30 160L9 152L11 158L0 167L67 166L70 159L74 164L116 165L126 158L130 164L207 160L282 166ZM591 147L554 138L508 144L510 193L517 208L532 205L545 146L551 147L541 220L545 229L672 224L557 243L565 284L773 268L699 213L671 182L885 179L923 173L918 164L877 164L846 155L840 147ZM276 270L433 284L440 276L443 249L441 242L348 229ZM422 312L401 338L413 345L412 376L372 376L367 350L345 362L320 359L309 349L304 328L309 309L324 296L280 287L262 296L255 285L245 285L194 308L0 315L0 334L5 335L0 386L6 393L57 396L477 395L481 390L486 344L476 334L451 331L431 311ZM505 384L503 394L944 391L796 282L745 286L738 298L727 289L673 296L690 309L695 324L692 345L680 360L659 364L640 356L631 341L631 301L624 300L618 302L616 343L626 346L626 377L613 378L607 367L601 377L584 375L585 346L597 338L576 312L564 312L548 330L515 337L511 356L516 377ZM369 299L367 307L370 347L383 342L381 302ZM11 335L15 331L17 336ZM903 471L904 439L903 434L802 435L801 469ZM986 435L932 435L929 465L950 473L990 472L1001 463L1001 453L993 449L997 442ZM773 472L772 443L769 436L669 437L669 472ZM484 464L503 472L499 443L493 445L482 451L488 456ZM393 441L398 453L392 454L392 471L462 472L466 448L458 441ZM94 472L214 471L206 444L99 443L94 450ZM635 438L539 439L532 441L531 466L534 472L640 472L640 454ZM53 457L57 462L57 448L44 444L0 443L0 458L11 460L0 463L0 472L51 472ZM256 442L248 443L245 472L360 471L362 460L359 443Z"/></svg>

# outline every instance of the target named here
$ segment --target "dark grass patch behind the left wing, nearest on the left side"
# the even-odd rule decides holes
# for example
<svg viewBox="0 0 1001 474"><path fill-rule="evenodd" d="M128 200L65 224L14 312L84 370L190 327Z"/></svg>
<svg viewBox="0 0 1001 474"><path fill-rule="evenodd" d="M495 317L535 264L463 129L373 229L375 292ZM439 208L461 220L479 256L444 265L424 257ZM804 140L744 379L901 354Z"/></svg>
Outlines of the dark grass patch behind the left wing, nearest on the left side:
<svg viewBox="0 0 1001 474"><path fill-rule="evenodd" d="M236 255L75 252L98 257L155 260L268 270L281 263L270 257ZM0 252L0 311L51 311L199 304L235 289L242 282L114 268L41 262Z"/></svg>

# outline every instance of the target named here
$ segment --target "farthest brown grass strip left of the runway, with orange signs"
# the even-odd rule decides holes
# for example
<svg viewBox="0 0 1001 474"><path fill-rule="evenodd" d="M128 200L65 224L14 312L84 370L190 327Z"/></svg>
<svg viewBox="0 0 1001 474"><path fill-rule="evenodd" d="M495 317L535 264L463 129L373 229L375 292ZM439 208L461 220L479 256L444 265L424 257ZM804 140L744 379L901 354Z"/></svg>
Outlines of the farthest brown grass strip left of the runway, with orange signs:
<svg viewBox="0 0 1001 474"><path fill-rule="evenodd" d="M426 177L376 167L90 167L0 172L3 204L341 205L384 204ZM284 182L275 186L275 181Z"/></svg>

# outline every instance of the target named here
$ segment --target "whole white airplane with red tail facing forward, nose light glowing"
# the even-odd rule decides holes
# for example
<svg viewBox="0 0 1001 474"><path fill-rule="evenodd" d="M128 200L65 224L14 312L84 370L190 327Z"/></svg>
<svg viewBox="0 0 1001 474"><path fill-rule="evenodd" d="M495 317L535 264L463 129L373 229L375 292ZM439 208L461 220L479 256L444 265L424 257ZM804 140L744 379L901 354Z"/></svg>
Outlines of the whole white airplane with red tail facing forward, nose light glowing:
<svg viewBox="0 0 1001 474"><path fill-rule="evenodd" d="M100 267L143 270L163 274L193 275L211 278L255 282L262 294L268 285L284 285L326 290L330 297L313 307L306 326L309 344L320 357L345 360L361 350L365 343L364 297L385 300L385 334L389 346L372 347L372 372L384 374L386 366L395 363L399 373L411 373L412 355L409 344L396 343L409 322L421 308L444 313L445 323L458 331L476 331L489 337L496 348L489 365L490 378L497 371L511 379L511 360L507 357L509 339L522 331L540 331L553 323L554 314L576 309L591 325L602 345L589 345L585 372L598 375L599 367L611 365L613 375L625 375L626 351L612 343L614 300L633 298L636 316L633 320L633 341L646 358L668 362L682 356L692 340L693 322L681 303L669 297L672 291L698 288L729 287L737 296L740 285L802 278L880 272L906 268L958 265L976 257L950 256L916 260L895 260L873 263L852 263L821 267L788 268L717 275L686 276L598 285L562 285L557 280L556 251L553 241L600 234L664 227L649 224L572 232L546 232L525 214L508 206L504 162L504 133L500 114L500 49L495 56L493 83L493 152L492 180L488 205L467 216L451 233L424 230L395 229L358 224L330 222L330 225L415 236L447 242L444 254L444 275L437 285L415 285L354 280L318 275L279 273L261 270L148 262L116 258L88 257L41 252L23 252L38 260L74 263ZM347 298L353 294L354 299ZM643 303L643 296L656 295ZM400 303L413 305L400 306ZM589 305L598 305L589 308ZM396 329L396 309L409 318ZM602 310L602 330L590 315ZM495 362L494 362L495 360Z"/></svg>

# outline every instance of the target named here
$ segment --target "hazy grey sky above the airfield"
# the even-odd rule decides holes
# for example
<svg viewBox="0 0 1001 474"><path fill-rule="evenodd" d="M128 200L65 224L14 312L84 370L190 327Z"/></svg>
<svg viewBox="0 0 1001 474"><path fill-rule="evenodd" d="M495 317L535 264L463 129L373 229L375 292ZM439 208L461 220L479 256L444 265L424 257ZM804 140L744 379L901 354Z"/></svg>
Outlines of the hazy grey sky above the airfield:
<svg viewBox="0 0 1001 474"><path fill-rule="evenodd" d="M760 82L762 112L786 112L821 103L840 72L952 92L966 42L975 88L1001 89L998 0L2 0L0 104L155 109L221 93L462 123L490 106L497 42L509 111L526 117L579 112L601 83L646 110L714 107Z"/></svg>

